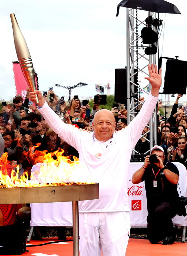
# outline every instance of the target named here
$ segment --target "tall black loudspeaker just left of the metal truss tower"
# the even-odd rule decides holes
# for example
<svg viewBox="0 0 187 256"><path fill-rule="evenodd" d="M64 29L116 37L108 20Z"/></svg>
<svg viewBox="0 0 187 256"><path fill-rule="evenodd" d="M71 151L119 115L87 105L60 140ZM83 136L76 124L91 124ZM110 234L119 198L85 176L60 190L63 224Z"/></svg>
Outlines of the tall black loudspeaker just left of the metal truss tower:
<svg viewBox="0 0 187 256"><path fill-rule="evenodd" d="M127 106L127 69L115 69L114 101Z"/></svg>

